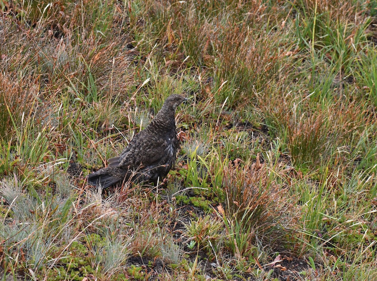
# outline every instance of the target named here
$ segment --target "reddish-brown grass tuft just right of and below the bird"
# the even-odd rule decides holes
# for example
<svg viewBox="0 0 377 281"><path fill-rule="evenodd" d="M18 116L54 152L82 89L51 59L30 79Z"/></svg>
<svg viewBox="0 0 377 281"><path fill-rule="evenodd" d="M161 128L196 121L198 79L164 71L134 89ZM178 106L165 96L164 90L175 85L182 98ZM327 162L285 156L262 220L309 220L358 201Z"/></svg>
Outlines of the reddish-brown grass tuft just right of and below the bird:
<svg viewBox="0 0 377 281"><path fill-rule="evenodd" d="M299 211L288 203L287 190L274 178L280 171L260 164L259 158L254 164L224 166L223 171L222 214L228 244L238 261L253 255L258 244L284 252Z"/></svg>

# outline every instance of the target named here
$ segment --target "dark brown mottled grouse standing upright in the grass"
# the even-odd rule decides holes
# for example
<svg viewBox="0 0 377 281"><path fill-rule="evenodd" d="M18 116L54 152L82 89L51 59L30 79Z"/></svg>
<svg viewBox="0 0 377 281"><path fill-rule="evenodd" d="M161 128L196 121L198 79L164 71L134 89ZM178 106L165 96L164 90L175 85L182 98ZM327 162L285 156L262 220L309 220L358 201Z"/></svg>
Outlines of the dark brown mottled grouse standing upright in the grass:
<svg viewBox="0 0 377 281"><path fill-rule="evenodd" d="M106 168L89 174L88 183L107 188L131 180L157 186L175 165L179 148L175 111L187 100L178 94L167 97L152 122L132 138L119 156L110 158Z"/></svg>

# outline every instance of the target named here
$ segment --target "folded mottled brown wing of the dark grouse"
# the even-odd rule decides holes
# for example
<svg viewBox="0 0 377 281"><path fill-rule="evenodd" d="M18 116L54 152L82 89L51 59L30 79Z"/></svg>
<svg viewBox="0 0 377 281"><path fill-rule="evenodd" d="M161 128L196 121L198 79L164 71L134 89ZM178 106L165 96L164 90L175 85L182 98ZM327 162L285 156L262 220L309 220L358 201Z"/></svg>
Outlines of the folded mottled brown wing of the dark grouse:
<svg viewBox="0 0 377 281"><path fill-rule="evenodd" d="M109 166L143 168L158 163L163 157L170 138L146 134L141 131L136 135L120 156L110 158Z"/></svg>

